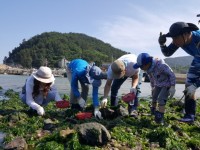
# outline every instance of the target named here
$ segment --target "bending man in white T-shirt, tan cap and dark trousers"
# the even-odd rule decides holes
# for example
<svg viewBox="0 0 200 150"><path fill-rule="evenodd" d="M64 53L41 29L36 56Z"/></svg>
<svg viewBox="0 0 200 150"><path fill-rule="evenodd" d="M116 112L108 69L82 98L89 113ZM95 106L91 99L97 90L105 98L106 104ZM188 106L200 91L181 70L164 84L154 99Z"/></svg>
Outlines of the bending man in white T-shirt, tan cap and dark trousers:
<svg viewBox="0 0 200 150"><path fill-rule="evenodd" d="M137 85L139 81L139 69L134 69L133 65L137 62L137 57L134 54L126 54L115 60L108 68L107 81L104 87L104 98L101 101L101 106L107 105L107 97L111 89L111 106L118 105L117 94L121 85L127 78L132 78L130 92L137 93ZM130 115L134 113L137 108L137 104L129 104Z"/></svg>

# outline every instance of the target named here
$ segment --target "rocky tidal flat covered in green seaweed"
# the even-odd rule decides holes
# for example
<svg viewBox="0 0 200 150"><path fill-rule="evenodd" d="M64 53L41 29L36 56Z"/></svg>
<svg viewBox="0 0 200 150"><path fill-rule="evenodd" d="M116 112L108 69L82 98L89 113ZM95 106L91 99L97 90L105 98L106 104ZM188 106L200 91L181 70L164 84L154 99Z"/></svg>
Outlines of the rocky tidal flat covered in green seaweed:
<svg viewBox="0 0 200 150"><path fill-rule="evenodd" d="M116 113L116 110L127 108L126 103L119 101L118 107L107 107L115 115L105 116L104 119L92 116L90 119L78 120L77 111L56 108L54 101L44 108L44 116L38 116L37 113L30 112L18 95L9 89L5 96L10 99L0 101L0 132L5 134L0 149L14 147L13 141L17 140L21 140L24 149L28 150L200 149L199 101L194 123L178 121L183 116L184 104L173 98L167 101L164 124L157 124L150 114L149 100L142 98L137 117ZM64 95L63 98L68 99L68 96ZM85 111L93 113L91 100L88 101ZM101 124L109 132L110 138L106 142L98 141L103 139L99 137L102 130L99 132L94 129L89 136L97 142L91 142L92 138L84 140L76 127L85 123Z"/></svg>

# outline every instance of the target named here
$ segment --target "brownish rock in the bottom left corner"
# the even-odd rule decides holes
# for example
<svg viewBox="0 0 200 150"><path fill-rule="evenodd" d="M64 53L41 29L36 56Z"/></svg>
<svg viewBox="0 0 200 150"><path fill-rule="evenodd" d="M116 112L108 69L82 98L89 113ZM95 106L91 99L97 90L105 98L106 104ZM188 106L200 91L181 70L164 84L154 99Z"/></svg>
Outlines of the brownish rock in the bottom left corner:
<svg viewBox="0 0 200 150"><path fill-rule="evenodd" d="M28 145L24 138L17 137L10 143L6 144L4 149L5 150L27 150Z"/></svg>

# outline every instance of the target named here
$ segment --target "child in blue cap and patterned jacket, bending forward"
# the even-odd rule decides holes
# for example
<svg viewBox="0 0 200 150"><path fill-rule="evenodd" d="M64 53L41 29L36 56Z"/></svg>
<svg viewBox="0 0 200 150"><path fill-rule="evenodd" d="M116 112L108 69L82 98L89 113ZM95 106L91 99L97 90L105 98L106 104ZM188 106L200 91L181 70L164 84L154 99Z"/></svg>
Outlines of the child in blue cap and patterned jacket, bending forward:
<svg viewBox="0 0 200 150"><path fill-rule="evenodd" d="M176 77L172 69L162 59L153 58L148 53L141 53L133 68L141 68L150 79L152 88L151 113L157 123L164 122L165 105L168 97L175 94ZM158 110L157 110L158 104Z"/></svg>

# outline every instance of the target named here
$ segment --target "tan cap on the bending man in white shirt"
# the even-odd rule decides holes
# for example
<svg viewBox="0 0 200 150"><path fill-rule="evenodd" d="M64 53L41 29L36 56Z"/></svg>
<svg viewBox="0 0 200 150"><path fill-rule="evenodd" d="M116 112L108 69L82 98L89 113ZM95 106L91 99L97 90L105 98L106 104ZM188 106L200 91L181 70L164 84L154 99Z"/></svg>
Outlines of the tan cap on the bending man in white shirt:
<svg viewBox="0 0 200 150"><path fill-rule="evenodd" d="M111 69L114 79L120 79L126 73L126 66L122 60L115 60L111 65Z"/></svg>

